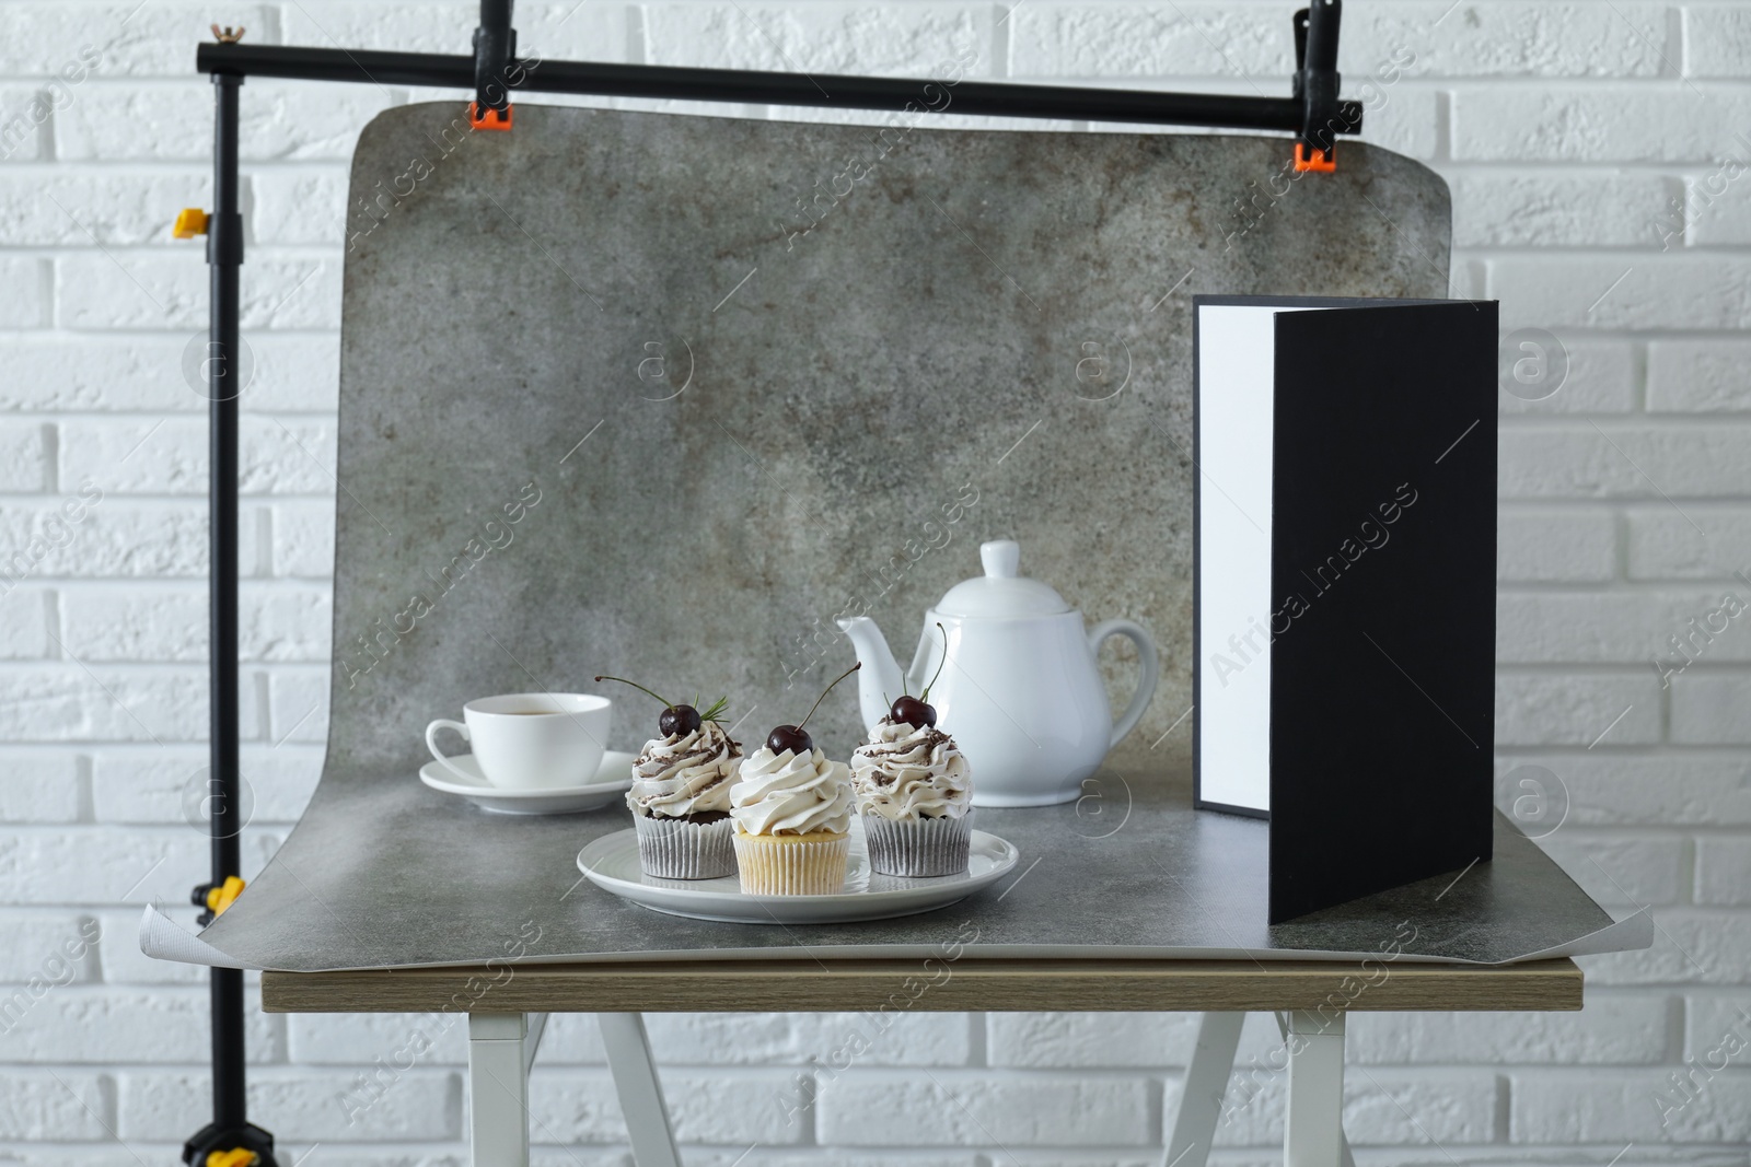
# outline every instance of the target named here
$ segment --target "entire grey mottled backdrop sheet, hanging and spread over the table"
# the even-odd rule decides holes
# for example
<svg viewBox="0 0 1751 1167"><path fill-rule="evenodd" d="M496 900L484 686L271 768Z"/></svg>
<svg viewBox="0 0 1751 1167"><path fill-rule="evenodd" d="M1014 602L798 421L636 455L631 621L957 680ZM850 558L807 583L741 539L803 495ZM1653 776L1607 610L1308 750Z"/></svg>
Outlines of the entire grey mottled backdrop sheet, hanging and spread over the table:
<svg viewBox="0 0 1751 1167"><path fill-rule="evenodd" d="M1347 143L1290 182L1266 138L455 114L396 108L359 142L329 756L203 940L326 969L483 961L524 920L545 959L923 952L972 920L988 954L1310 955L1413 919L1415 952L1508 961L1609 922L1502 824L1445 898L1266 929L1266 828L1189 808L1191 294L1443 296L1431 171ZM676 920L578 880L623 810L504 819L415 779L429 719L597 672L727 691L758 740L851 663L837 612L905 654L998 535L1091 619L1150 626L1164 667L1147 766L981 812L1024 852L1002 891L865 926ZM1131 663L1107 665L1121 698ZM637 749L657 707L615 696L611 744ZM835 693L816 740L849 754L854 710Z"/></svg>

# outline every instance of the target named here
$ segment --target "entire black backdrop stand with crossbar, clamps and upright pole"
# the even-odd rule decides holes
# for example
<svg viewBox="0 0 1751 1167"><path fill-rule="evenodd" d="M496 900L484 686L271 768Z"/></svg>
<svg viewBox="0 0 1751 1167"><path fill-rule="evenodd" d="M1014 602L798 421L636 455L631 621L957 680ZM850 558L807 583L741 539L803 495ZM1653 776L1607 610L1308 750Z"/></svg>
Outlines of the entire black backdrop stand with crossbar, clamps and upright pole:
<svg viewBox="0 0 1751 1167"><path fill-rule="evenodd" d="M1336 168L1336 136L1362 128L1362 108L1338 98L1340 0L1315 0L1294 16L1296 73L1287 98L1145 93L1126 89L1014 86L960 80L956 114L1042 117L1222 129L1278 129L1296 135L1299 171ZM779 72L525 61L517 56L511 0L482 0L473 56L303 49L240 44L243 30L214 26L215 44L196 52L196 68L214 80L214 208L186 210L177 238L207 236L210 268L208 472L210 569L210 768L208 805L212 880L194 889L207 924L242 891L238 835L243 822L238 782L238 628L236 504L238 397L233 376L238 348L238 269L243 217L238 212L238 87L245 77L340 80L434 87L473 87L469 119L476 129L513 129L511 93L578 93L690 101L811 105L888 112L933 110L928 79L804 77ZM830 94L830 96L823 96ZM921 100L923 98L923 100ZM947 108L947 107L944 107ZM273 1136L249 1122L245 1104L243 973L212 971L214 1118L182 1150L201 1167L271 1167Z"/></svg>

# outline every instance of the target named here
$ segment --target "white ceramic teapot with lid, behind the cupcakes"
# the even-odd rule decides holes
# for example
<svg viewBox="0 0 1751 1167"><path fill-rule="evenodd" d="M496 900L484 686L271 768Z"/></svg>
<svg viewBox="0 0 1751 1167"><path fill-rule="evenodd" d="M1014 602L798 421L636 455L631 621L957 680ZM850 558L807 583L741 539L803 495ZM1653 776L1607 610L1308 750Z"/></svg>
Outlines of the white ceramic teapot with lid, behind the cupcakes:
<svg viewBox="0 0 1751 1167"><path fill-rule="evenodd" d="M982 544L979 558L986 574L954 584L925 612L918 654L904 677L876 621L839 621L863 665L863 721L874 730L895 698L921 695L940 665L930 703L937 726L954 738L972 768L974 805L1066 803L1082 794L1082 780L1149 707L1161 674L1156 642L1129 619L1087 630L1082 612L1052 588L1016 574L1021 546L1009 539ZM1094 663L1107 637L1131 640L1142 665L1136 695L1119 724L1112 723Z"/></svg>

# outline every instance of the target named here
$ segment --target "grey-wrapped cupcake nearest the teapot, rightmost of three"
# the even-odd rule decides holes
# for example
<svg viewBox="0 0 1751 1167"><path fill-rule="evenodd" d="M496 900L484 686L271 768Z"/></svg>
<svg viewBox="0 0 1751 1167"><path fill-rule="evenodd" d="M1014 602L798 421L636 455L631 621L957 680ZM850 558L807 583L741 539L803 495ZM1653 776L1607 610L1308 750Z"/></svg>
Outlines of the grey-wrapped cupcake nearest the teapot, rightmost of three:
<svg viewBox="0 0 1751 1167"><path fill-rule="evenodd" d="M851 754L851 786L872 870L911 877L967 870L972 768L947 733L883 717Z"/></svg>

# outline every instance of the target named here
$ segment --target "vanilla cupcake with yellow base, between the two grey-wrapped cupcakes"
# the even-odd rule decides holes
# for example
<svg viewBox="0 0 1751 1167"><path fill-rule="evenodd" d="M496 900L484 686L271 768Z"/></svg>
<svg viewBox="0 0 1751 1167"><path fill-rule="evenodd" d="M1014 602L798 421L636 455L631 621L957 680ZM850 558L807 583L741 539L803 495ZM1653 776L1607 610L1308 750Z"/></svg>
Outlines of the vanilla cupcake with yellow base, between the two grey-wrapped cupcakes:
<svg viewBox="0 0 1751 1167"><path fill-rule="evenodd" d="M730 791L735 861L753 896L832 896L851 852L851 768L818 749L742 761Z"/></svg>

